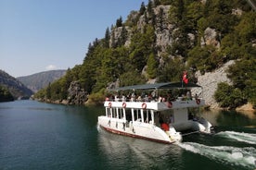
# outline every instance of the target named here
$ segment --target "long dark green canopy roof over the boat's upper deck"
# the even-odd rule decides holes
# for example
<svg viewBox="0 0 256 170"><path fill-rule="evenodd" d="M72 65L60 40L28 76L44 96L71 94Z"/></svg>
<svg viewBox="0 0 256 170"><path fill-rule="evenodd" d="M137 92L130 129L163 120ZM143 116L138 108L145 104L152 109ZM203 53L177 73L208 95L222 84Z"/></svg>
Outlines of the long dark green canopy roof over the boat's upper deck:
<svg viewBox="0 0 256 170"><path fill-rule="evenodd" d="M181 88L200 88L198 84L194 83L182 83L182 82L162 82L154 84L141 84L134 86L125 86L115 89L109 89L109 91L128 91L128 90L169 90L169 89L181 89Z"/></svg>

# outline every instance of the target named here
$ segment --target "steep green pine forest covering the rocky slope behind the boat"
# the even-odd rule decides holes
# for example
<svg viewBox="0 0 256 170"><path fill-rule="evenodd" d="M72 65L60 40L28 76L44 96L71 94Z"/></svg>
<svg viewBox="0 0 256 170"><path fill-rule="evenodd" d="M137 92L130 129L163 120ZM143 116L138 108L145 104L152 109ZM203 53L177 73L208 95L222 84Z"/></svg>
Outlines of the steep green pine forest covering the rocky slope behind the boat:
<svg viewBox="0 0 256 170"><path fill-rule="evenodd" d="M168 18L163 15L164 6L169 6ZM168 23L173 26L168 30L173 42L162 52L156 39ZM207 28L217 32L219 45L202 45ZM114 36L117 30L118 37ZM69 68L64 77L34 97L66 100L70 83L78 81L89 99L103 101L112 83L126 86L150 79L180 81L183 70L197 82L196 71L204 74L235 60L228 69L232 84L219 84L214 98L222 107L235 108L248 102L255 106L255 56L256 12L246 0L149 0L139 11L131 11L125 21L117 18L115 25L107 27L105 37L88 45L81 65Z"/></svg>

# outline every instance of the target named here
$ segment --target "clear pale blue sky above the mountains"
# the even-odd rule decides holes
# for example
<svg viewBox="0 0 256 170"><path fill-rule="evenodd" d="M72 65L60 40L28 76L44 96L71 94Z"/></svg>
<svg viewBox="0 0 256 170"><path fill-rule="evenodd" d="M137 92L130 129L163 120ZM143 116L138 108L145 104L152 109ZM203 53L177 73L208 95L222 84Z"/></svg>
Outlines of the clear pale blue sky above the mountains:
<svg viewBox="0 0 256 170"><path fill-rule="evenodd" d="M83 63L89 42L145 0L0 0L0 69L13 77Z"/></svg>

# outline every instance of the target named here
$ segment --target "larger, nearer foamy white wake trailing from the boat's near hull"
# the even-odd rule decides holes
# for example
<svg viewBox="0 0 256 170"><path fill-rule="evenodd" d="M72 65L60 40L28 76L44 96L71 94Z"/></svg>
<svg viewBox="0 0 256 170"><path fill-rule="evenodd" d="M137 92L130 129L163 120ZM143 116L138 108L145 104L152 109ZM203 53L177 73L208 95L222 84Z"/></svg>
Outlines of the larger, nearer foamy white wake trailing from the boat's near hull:
<svg viewBox="0 0 256 170"><path fill-rule="evenodd" d="M206 146L194 142L178 144L189 152L198 153L222 164L256 167L256 149L253 147L237 148L231 146Z"/></svg>

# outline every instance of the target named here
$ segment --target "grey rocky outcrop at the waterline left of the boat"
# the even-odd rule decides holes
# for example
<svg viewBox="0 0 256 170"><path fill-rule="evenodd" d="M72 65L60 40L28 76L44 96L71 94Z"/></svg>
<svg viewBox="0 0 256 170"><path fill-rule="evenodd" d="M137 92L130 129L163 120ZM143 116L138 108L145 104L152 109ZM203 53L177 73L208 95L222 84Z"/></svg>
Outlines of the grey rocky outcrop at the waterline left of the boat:
<svg viewBox="0 0 256 170"><path fill-rule="evenodd" d="M87 93L81 88L78 81L72 81L68 90L68 103L69 104L84 104L88 100ZM65 103L67 103L65 101Z"/></svg>

